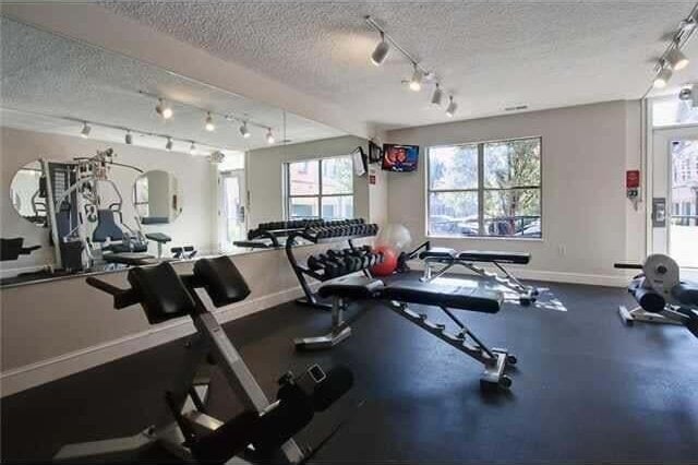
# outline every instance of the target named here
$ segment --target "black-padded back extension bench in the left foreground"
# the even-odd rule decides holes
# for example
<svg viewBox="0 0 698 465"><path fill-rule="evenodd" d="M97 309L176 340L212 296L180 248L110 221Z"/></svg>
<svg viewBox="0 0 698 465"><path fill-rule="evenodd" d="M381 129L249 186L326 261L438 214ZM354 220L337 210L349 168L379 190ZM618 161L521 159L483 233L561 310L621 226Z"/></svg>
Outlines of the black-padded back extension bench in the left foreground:
<svg viewBox="0 0 698 465"><path fill-rule="evenodd" d="M351 388L351 371L335 367L325 372L312 365L299 377L288 372L279 379L277 401L270 403L196 291L204 288L216 307L244 300L250 288L230 259L198 260L191 275L178 275L168 262L135 267L128 281L131 288L120 289L87 278L91 286L113 296L116 309L140 303L151 324L190 317L196 329L184 348L179 375L164 396L171 417L161 416L133 437L65 445L55 461L123 462L128 456L132 462L136 453L158 443L182 460L202 463L226 463L234 455L263 463L302 462L304 451L292 437L315 412L325 410ZM207 412L213 368L221 371L244 406L242 414L226 422Z"/></svg>

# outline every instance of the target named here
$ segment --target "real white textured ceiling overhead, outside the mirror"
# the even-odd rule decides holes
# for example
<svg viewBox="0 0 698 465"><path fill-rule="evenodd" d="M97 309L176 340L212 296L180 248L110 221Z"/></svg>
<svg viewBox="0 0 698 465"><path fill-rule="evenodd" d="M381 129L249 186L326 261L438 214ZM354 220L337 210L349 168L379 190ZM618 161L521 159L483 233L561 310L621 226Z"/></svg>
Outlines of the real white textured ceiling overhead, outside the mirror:
<svg viewBox="0 0 698 465"><path fill-rule="evenodd" d="M395 50L369 55L371 14L434 69L459 103L457 119L528 105L542 109L638 98L693 1L119 2L105 8L341 107L383 129L448 120L431 88L400 84ZM687 50L698 61L698 49ZM698 78L698 68L674 81Z"/></svg>

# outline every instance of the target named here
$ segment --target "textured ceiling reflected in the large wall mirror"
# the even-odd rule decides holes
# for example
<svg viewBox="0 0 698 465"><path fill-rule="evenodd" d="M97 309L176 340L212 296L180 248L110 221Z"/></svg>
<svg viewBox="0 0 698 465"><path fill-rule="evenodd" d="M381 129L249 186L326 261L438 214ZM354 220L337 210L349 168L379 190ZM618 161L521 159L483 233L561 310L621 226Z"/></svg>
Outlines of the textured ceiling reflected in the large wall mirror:
<svg viewBox="0 0 698 465"><path fill-rule="evenodd" d="M284 111L226 93L137 60L73 41L15 21L0 17L2 124L19 129L74 133L80 123L32 116L32 111L79 120L103 122L195 140L213 147L249 150L266 146L262 128L250 127L252 136L242 139L240 122L218 118L215 132L204 130L205 112L173 104L174 117L165 121L155 112L156 100L139 94L145 91L214 112L233 114L272 127L277 141L284 136ZM286 139L303 142L344 133L290 114L286 115ZM94 138L123 141L122 131L97 129ZM136 143L164 146L164 140L134 138ZM188 143L176 148L189 150Z"/></svg>

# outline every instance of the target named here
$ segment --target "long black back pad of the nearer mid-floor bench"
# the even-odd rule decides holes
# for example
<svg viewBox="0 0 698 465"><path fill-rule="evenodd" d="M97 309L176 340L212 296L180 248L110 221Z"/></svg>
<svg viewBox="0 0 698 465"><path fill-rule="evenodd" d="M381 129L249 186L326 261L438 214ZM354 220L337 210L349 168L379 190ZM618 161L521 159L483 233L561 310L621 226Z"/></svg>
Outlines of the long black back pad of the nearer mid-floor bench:
<svg viewBox="0 0 698 465"><path fill-rule="evenodd" d="M399 283L383 290L383 298L483 313L496 313L504 296L498 290L434 283Z"/></svg>

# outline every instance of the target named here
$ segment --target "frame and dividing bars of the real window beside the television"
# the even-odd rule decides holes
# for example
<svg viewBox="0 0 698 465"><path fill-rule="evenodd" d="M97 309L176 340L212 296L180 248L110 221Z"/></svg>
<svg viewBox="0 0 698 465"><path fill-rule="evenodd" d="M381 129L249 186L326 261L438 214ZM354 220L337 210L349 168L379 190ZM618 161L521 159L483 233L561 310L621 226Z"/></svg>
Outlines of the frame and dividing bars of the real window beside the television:
<svg viewBox="0 0 698 465"><path fill-rule="evenodd" d="M537 139L540 147L539 154L539 169L540 169L540 181L538 187L530 186L517 186L515 188L500 189L500 188L488 188L485 186L484 180L484 146L486 144L493 143L507 143L507 142L516 142L516 141L525 141ZM430 156L431 151L433 148L443 148L443 147L461 147L467 145L474 145L477 147L478 153L478 187L474 189L431 189L431 177L430 177ZM529 242L543 242L544 241L544 233L543 233L543 136L542 135L527 135L519 138L507 138L507 139L493 139L486 141L472 141L472 142L461 142L461 143L453 143L453 144L438 144L438 145L430 145L426 147L426 163L425 174L424 174L424 237L428 239L474 239L474 240L513 240L513 241L529 241ZM448 235L440 235L440 234L430 234L429 229L429 218L430 218L430 195L433 192L477 192L478 194L478 226L480 230L483 230L483 223L485 219L484 216L484 195L488 191L505 191L513 189L538 189L540 192L540 228L541 228L541 237L521 237L521 236L488 236L483 234L472 235L472 236L448 236Z"/></svg>

